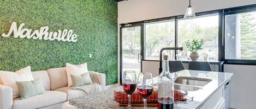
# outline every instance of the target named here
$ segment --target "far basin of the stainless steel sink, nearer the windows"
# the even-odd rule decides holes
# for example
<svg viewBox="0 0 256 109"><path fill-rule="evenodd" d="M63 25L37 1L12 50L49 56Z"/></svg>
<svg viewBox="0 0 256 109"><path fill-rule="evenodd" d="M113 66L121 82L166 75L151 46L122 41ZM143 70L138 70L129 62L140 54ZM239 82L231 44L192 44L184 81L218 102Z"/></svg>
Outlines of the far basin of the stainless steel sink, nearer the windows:
<svg viewBox="0 0 256 109"><path fill-rule="evenodd" d="M205 79L205 78L191 78L186 76L179 76L174 83L175 84L182 84L182 85L189 85L189 86L205 86L209 82L211 82L211 79Z"/></svg>

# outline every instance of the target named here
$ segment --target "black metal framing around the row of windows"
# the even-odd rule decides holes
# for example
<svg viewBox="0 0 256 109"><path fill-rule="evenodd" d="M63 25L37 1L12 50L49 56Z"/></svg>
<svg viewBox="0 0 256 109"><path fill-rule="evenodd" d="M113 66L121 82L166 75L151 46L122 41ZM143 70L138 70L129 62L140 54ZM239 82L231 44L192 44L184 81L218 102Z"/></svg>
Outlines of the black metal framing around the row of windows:
<svg viewBox="0 0 256 109"><path fill-rule="evenodd" d="M225 15L228 14L238 14L242 12L250 12L250 11L256 11L256 4L252 5L245 5L241 7L234 7L234 8L227 8L227 9L218 9L218 10L212 10L212 11L204 11L204 12L197 12L195 15L197 17L205 16L205 15L212 15L212 14L218 14L219 15L219 24L218 24L218 61L224 61L224 64L231 64L231 65L256 65L256 60L242 60L242 59L225 59ZM196 17L196 18L197 18ZM145 21L139 21L139 22L132 22L134 23L144 23L144 34L141 36L142 43L142 56L145 57L145 23L149 22L158 22L158 21L164 21L164 20L175 20L175 47L177 47L177 40L178 40L178 20L183 19L184 15L177 15L177 16L170 16L170 17L164 17L164 18L156 18L152 20L145 20ZM129 23L130 24L130 23ZM120 29L121 31L121 29ZM175 51L175 55L177 52ZM176 59L176 56L175 56ZM144 58L142 61L159 61L159 60L145 60Z"/></svg>

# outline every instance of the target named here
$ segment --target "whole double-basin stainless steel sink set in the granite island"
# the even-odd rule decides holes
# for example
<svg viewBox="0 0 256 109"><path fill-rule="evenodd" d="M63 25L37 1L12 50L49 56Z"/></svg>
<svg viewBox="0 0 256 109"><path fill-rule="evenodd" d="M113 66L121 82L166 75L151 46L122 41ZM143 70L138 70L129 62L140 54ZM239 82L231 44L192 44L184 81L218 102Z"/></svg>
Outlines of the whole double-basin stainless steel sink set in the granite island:
<svg viewBox="0 0 256 109"><path fill-rule="evenodd" d="M205 78L178 76L177 79L174 81L174 89L181 91L197 91L211 81L211 79Z"/></svg>

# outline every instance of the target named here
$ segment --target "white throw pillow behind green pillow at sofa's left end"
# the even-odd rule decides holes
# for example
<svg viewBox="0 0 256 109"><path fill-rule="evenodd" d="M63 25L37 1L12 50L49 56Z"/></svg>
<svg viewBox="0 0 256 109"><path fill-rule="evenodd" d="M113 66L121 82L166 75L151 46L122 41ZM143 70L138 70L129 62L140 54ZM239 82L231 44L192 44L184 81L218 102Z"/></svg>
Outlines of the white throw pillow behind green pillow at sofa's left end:
<svg viewBox="0 0 256 109"><path fill-rule="evenodd" d="M30 66L17 70L16 72L0 71L0 78L3 85L13 88L13 99L20 97L16 81L34 80Z"/></svg>

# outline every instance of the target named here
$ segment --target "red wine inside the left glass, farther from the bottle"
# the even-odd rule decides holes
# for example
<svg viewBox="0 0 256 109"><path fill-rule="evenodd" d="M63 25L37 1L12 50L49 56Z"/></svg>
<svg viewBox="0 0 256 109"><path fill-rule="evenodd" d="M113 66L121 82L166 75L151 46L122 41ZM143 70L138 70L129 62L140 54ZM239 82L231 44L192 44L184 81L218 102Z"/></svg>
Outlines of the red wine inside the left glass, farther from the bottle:
<svg viewBox="0 0 256 109"><path fill-rule="evenodd" d="M123 87L123 91L126 92L127 94L132 94L135 89L136 89L136 82L132 82L132 81L127 81L127 82L123 82L122 87Z"/></svg>

